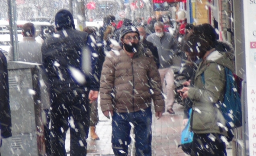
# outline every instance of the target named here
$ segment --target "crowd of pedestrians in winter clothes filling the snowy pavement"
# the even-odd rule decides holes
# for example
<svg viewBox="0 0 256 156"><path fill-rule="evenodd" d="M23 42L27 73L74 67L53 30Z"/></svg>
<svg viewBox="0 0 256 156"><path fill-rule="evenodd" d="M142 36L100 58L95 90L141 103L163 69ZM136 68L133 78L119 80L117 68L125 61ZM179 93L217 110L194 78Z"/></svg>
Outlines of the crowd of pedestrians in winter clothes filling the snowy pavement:
<svg viewBox="0 0 256 156"><path fill-rule="evenodd" d="M195 133L191 155L226 154L220 139L226 133L217 124L223 119L214 104L223 100L225 73L221 69L233 69L234 49L216 40L210 24L187 24L184 12L179 12L178 19L176 24L169 16L116 21L110 15L99 30L78 31L72 14L62 9L55 15L56 32L42 44L35 40L32 23L23 26L18 60L41 63L48 86L50 106L44 107L49 118L44 127L47 156L66 156L69 127L71 156L86 155L89 128L91 138L100 139L96 133L98 97L103 114L112 118L115 155L128 155L134 126L135 155L151 156L151 106L158 119L165 111L175 114L175 94L184 99L183 125L189 108L199 110L191 117ZM187 81L177 91L174 78L181 72L186 72ZM1 132L9 136L8 127Z"/></svg>

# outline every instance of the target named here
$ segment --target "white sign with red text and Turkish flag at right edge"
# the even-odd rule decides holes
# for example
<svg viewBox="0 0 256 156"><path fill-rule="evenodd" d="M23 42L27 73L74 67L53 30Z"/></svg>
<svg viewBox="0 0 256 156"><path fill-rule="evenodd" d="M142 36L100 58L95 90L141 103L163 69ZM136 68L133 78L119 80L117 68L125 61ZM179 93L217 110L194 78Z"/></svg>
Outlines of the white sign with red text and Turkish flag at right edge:
<svg viewBox="0 0 256 156"><path fill-rule="evenodd" d="M256 0L243 0L249 155L256 156Z"/></svg>

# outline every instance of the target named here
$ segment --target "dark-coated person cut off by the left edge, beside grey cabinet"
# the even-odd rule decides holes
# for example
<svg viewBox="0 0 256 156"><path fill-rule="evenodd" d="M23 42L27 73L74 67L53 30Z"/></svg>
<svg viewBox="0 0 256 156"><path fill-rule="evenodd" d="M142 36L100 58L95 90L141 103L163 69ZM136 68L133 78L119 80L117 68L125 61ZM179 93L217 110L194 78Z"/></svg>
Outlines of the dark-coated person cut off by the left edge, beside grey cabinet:
<svg viewBox="0 0 256 156"><path fill-rule="evenodd" d="M7 60L4 55L4 50L0 49L0 128L1 137L9 138L12 136L12 119L9 103L9 83Z"/></svg>

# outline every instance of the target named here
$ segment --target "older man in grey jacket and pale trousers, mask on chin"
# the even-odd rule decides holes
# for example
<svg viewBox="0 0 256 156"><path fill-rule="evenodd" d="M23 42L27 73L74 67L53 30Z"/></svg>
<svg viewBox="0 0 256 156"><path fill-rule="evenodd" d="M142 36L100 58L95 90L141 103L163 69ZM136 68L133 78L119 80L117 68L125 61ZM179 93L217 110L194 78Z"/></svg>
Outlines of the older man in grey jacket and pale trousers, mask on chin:
<svg viewBox="0 0 256 156"><path fill-rule="evenodd" d="M173 56L177 53L178 44L172 34L164 31L164 23L156 22L154 29L156 32L149 35L146 39L157 47L160 59L158 71L160 73L163 90L165 90L164 79L166 81L165 107L170 114L174 114L174 73L172 66Z"/></svg>

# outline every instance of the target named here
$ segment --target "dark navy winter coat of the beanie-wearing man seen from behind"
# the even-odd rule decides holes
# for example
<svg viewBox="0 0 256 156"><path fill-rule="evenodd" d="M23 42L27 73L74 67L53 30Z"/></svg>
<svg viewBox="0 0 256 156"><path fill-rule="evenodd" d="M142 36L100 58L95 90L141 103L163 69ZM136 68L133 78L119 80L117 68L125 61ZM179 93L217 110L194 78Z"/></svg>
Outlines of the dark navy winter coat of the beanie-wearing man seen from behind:
<svg viewBox="0 0 256 156"><path fill-rule="evenodd" d="M90 55L93 52L86 55L91 60L91 74L86 75L82 69L82 50L88 47L93 51L91 42L86 32L74 29L60 30L46 39L42 44L42 63L49 79L50 92L66 93L73 90L83 92L84 88L99 90L99 81L93 76L97 62L97 58ZM79 84L74 79L70 67L78 69L84 75L85 84Z"/></svg>

